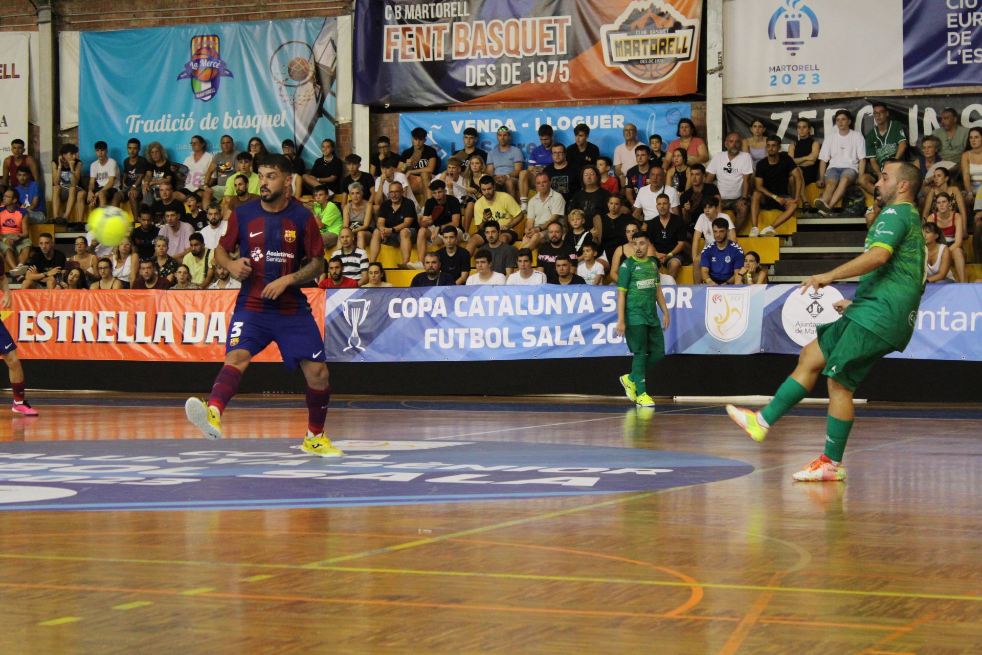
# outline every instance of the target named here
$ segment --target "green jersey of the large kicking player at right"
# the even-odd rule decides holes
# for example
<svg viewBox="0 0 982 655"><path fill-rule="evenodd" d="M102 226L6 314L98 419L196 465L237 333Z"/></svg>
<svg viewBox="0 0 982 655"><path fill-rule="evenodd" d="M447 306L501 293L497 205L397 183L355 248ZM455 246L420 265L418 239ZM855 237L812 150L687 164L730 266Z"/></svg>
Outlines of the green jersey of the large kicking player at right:
<svg viewBox="0 0 982 655"><path fill-rule="evenodd" d="M926 281L927 246L917 209L909 202L884 207L866 235L866 250L874 246L889 251L890 259L859 279L844 315L902 351Z"/></svg>

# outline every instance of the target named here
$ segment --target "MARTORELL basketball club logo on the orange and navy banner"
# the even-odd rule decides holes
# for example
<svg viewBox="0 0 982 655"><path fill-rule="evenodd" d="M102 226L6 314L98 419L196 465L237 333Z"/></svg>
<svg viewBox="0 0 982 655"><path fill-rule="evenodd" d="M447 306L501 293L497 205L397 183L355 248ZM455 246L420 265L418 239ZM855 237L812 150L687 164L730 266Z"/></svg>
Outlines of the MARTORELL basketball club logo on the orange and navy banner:
<svg viewBox="0 0 982 655"><path fill-rule="evenodd" d="M692 61L699 22L660 0L634 0L613 25L600 28L604 63L620 66L632 80L651 84Z"/></svg>

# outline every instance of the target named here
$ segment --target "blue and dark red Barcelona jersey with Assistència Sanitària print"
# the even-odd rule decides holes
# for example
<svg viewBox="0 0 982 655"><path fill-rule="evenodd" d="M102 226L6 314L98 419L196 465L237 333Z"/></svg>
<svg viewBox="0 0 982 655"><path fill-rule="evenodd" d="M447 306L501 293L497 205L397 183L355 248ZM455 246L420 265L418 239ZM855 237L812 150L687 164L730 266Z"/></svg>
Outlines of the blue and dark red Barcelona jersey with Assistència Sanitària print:
<svg viewBox="0 0 982 655"><path fill-rule="evenodd" d="M239 290L237 311L243 308L274 314L310 311L299 287L288 287L276 300L261 297L267 284L299 271L301 260L324 256L317 219L300 201L291 200L278 212L266 211L258 199L239 205L229 216L228 229L219 245L230 252L238 245L252 266Z"/></svg>

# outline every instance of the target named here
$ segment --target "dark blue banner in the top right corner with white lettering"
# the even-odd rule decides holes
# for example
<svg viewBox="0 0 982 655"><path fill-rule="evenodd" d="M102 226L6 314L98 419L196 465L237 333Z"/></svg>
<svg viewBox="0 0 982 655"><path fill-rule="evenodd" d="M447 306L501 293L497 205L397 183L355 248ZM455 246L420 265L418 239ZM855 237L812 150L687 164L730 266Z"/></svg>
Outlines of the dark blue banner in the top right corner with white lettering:
<svg viewBox="0 0 982 655"><path fill-rule="evenodd" d="M982 83L977 0L903 0L903 87Z"/></svg>

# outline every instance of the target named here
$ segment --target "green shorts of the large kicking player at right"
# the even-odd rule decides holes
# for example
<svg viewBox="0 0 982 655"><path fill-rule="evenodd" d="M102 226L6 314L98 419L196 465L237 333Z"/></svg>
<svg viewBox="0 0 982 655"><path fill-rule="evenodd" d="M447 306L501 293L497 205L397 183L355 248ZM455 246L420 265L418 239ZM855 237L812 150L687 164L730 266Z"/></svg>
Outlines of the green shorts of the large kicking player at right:
<svg viewBox="0 0 982 655"><path fill-rule="evenodd" d="M877 361L897 349L863 326L843 316L819 325L818 347L825 355L823 375L855 391Z"/></svg>

